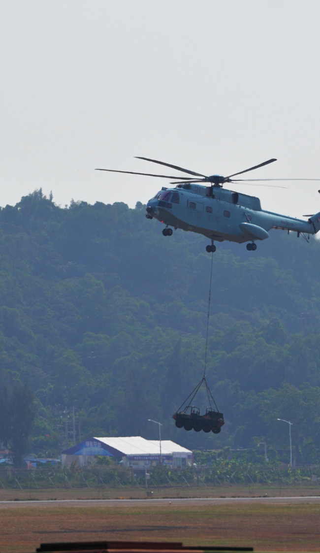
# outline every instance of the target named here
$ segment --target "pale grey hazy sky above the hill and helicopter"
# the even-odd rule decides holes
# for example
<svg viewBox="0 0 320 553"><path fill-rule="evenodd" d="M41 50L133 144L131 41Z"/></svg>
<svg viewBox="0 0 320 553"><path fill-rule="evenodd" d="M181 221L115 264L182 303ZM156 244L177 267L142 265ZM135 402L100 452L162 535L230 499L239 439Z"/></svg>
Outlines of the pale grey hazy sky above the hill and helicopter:
<svg viewBox="0 0 320 553"><path fill-rule="evenodd" d="M0 205L146 202L166 181L94 171L158 172L135 155L320 178L319 25L319 0L0 1ZM288 187L238 190L320 211L320 182Z"/></svg>

